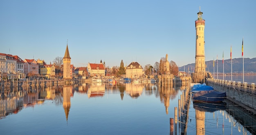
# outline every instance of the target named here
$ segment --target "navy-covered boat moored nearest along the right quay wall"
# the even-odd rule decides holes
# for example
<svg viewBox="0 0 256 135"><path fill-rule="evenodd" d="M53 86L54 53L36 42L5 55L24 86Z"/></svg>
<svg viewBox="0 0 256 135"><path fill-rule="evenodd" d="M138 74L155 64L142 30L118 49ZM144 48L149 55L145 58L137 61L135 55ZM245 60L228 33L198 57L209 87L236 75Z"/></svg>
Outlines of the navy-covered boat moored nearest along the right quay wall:
<svg viewBox="0 0 256 135"><path fill-rule="evenodd" d="M193 102L195 103L213 103L222 102L227 97L226 92L218 91L198 91L193 93Z"/></svg>

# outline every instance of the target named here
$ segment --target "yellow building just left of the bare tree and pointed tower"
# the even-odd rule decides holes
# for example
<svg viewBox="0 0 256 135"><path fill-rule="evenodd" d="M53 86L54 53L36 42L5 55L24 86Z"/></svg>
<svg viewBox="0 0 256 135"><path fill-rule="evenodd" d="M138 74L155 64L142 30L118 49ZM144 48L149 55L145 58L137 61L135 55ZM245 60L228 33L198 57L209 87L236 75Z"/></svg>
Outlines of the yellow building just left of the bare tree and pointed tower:
<svg viewBox="0 0 256 135"><path fill-rule="evenodd" d="M40 75L46 78L54 78L55 77L55 66L54 64L45 64L39 66Z"/></svg>

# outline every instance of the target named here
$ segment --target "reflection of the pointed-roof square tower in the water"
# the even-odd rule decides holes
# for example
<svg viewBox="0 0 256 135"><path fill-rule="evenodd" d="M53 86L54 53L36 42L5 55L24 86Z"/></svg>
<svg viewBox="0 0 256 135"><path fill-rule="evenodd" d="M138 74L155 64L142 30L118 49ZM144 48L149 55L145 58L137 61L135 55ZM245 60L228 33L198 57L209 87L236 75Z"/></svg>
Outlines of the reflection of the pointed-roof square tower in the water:
<svg viewBox="0 0 256 135"><path fill-rule="evenodd" d="M70 97L72 94L72 85L63 86L63 108L66 115L66 120L68 119L68 114L70 112L71 102Z"/></svg>

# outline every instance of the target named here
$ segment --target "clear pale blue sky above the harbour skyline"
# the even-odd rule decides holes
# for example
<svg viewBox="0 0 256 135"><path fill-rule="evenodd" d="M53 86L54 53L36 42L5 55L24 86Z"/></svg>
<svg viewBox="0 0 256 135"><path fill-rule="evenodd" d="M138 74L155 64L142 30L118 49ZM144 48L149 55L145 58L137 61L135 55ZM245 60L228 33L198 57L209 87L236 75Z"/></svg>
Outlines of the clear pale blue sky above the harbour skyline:
<svg viewBox="0 0 256 135"><path fill-rule="evenodd" d="M132 61L154 65L168 54L178 66L195 62L195 20L205 20L205 60L256 57L255 0L1 0L0 53L47 64Z"/></svg>

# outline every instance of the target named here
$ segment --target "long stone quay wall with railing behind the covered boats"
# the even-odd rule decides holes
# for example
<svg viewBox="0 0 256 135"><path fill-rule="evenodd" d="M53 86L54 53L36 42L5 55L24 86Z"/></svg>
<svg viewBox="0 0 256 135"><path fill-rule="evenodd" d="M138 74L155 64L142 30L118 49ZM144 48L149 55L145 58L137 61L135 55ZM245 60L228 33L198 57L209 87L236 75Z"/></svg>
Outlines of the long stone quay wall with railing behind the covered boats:
<svg viewBox="0 0 256 135"><path fill-rule="evenodd" d="M226 92L227 100L234 102L256 115L255 84L247 82L231 82L207 78L207 85L213 86L216 91Z"/></svg>

